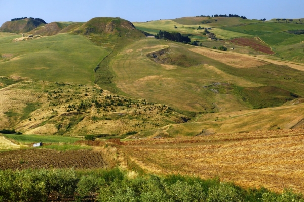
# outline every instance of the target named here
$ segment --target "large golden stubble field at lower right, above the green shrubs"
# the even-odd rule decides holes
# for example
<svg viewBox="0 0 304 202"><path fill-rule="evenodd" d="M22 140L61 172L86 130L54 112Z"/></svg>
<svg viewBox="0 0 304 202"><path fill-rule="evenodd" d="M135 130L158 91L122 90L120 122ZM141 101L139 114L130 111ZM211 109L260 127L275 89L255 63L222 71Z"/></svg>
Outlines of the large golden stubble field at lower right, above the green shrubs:
<svg viewBox="0 0 304 202"><path fill-rule="evenodd" d="M125 159L148 172L218 176L242 187L304 193L304 129L125 142ZM128 162L127 162L128 164Z"/></svg>

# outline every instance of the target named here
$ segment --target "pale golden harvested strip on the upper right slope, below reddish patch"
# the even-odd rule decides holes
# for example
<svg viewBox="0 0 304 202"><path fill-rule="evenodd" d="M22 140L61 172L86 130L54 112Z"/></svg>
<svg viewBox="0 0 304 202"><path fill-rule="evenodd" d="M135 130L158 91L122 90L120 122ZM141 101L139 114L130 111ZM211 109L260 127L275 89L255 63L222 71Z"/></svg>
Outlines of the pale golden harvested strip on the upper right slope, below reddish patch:
<svg viewBox="0 0 304 202"><path fill-rule="evenodd" d="M191 48L189 50L236 68L250 68L267 64L264 61L237 53L213 51L207 48Z"/></svg>

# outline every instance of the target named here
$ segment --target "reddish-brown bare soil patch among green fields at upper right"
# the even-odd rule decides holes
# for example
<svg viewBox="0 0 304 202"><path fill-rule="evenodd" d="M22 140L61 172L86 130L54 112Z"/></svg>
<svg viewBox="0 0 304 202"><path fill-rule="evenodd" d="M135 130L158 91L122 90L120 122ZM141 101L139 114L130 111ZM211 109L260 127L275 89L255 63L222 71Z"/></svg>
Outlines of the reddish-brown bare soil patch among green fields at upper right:
<svg viewBox="0 0 304 202"><path fill-rule="evenodd" d="M275 52L273 52L272 49L267 44L265 44L260 38L235 38L227 42L231 42L241 46L251 47L256 51L260 51L266 54L275 54Z"/></svg>

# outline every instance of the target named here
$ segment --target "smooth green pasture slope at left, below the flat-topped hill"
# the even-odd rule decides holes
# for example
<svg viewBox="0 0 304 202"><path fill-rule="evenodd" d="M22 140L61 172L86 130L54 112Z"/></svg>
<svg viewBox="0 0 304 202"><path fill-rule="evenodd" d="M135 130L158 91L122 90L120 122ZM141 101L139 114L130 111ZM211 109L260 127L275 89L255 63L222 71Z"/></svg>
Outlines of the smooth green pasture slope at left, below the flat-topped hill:
<svg viewBox="0 0 304 202"><path fill-rule="evenodd" d="M84 36L58 34L11 42L15 35L0 37L0 76L91 84L94 67L108 54ZM8 60L9 59L9 60Z"/></svg>

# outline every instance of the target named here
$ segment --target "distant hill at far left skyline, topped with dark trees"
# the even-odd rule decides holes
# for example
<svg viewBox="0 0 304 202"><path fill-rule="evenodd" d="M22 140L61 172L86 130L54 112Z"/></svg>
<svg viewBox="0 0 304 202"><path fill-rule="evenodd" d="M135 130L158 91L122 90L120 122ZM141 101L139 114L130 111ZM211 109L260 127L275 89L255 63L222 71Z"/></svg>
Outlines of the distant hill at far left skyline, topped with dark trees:
<svg viewBox="0 0 304 202"><path fill-rule="evenodd" d="M27 33L37 27L45 25L45 23L32 18L22 20L8 21L0 27L0 32L11 32L16 34Z"/></svg>

